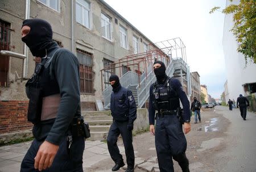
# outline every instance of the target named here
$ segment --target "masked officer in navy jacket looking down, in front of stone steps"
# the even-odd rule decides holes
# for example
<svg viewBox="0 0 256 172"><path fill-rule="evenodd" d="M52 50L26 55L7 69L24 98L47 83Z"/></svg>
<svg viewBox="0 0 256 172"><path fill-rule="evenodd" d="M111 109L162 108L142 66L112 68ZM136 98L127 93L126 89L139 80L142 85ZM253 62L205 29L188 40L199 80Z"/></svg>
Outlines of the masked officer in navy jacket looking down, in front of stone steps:
<svg viewBox="0 0 256 172"><path fill-rule="evenodd" d="M112 171L119 170L125 165L122 155L119 153L117 138L121 134L127 162L126 172L134 171L134 150L133 150L133 123L137 118L137 107L131 91L122 87L117 75L112 74L109 82L113 87L110 100L110 110L113 116L113 123L108 134L108 149L115 166Z"/></svg>

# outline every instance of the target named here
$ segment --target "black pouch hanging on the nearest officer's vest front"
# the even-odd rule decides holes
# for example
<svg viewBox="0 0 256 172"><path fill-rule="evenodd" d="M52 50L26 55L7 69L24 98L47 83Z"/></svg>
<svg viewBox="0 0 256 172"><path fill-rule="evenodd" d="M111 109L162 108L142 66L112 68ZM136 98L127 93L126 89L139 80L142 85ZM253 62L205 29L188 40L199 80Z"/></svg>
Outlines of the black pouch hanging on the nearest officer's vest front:
<svg viewBox="0 0 256 172"><path fill-rule="evenodd" d="M42 113L42 88L36 88L32 86L28 87L28 94L30 101L28 103L27 120L33 124L39 123Z"/></svg>

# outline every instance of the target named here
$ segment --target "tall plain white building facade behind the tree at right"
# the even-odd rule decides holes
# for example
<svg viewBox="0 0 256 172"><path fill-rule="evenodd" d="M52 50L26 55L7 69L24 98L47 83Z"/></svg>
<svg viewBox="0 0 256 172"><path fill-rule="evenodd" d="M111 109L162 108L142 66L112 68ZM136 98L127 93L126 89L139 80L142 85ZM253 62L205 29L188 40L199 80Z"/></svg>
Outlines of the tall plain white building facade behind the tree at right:
<svg viewBox="0 0 256 172"><path fill-rule="evenodd" d="M227 0L226 6L230 4L237 5L239 2L239 0L233 2ZM246 66L245 57L242 53L237 52L238 43L236 37L230 31L233 24L233 14L225 15L222 44L228 80L225 83L225 92L228 92L225 95L226 101L229 99L237 100L240 94L248 96L256 92L256 64L248 60Z"/></svg>

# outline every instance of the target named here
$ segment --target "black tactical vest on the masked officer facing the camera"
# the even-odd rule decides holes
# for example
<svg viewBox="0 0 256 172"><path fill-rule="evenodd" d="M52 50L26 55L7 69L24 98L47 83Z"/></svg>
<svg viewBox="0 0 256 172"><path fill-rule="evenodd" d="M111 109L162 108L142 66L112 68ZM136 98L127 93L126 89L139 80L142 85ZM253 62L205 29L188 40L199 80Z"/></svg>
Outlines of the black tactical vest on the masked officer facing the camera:
<svg viewBox="0 0 256 172"><path fill-rule="evenodd" d="M166 82L159 84L157 81L154 83L152 96L155 101L155 110L176 110L179 104L179 97L171 86L171 78L168 77Z"/></svg>

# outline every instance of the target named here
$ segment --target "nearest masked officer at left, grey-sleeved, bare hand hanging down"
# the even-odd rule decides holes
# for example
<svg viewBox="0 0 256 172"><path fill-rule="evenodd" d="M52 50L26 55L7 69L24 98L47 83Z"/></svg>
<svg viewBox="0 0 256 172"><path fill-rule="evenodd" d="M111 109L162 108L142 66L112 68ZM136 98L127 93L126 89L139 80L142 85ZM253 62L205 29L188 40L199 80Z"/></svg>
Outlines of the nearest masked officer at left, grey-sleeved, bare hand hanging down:
<svg viewBox="0 0 256 172"><path fill-rule="evenodd" d="M51 25L45 20L24 20L21 32L22 41L41 62L26 83L27 117L34 124L35 139L20 171L83 171L79 62L52 40Z"/></svg>

